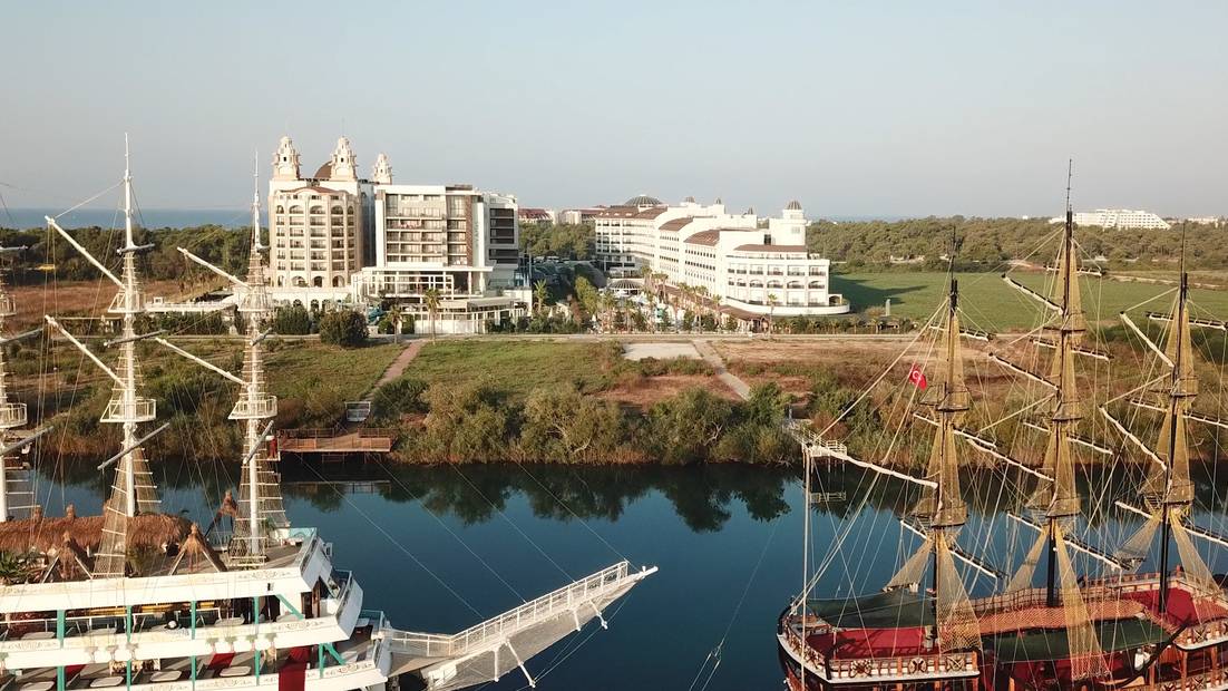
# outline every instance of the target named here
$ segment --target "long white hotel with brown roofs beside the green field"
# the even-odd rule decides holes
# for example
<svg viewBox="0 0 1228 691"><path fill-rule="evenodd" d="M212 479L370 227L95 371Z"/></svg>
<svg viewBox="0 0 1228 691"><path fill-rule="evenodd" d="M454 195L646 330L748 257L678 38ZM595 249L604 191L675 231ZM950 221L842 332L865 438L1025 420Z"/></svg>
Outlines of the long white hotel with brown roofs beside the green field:
<svg viewBox="0 0 1228 691"><path fill-rule="evenodd" d="M598 260L610 275L647 266L673 286L702 286L742 320L849 312L842 296L829 292L830 261L806 248L797 201L761 223L754 210L728 214L721 200L669 206L640 195L602 210L594 223Z"/></svg>

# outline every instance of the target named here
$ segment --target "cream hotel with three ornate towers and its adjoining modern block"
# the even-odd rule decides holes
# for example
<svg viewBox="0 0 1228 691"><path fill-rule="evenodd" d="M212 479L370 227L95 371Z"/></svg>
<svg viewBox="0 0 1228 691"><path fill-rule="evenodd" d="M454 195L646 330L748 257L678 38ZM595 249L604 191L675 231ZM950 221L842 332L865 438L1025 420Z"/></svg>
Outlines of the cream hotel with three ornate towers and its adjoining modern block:
<svg viewBox="0 0 1228 691"><path fill-rule="evenodd" d="M273 298L305 307L395 302L427 330L426 291L440 293L436 329L478 333L523 314L510 295L518 263L515 196L472 185L394 184L381 153L357 177L341 137L329 162L302 177L290 137L273 160L269 237Z"/></svg>

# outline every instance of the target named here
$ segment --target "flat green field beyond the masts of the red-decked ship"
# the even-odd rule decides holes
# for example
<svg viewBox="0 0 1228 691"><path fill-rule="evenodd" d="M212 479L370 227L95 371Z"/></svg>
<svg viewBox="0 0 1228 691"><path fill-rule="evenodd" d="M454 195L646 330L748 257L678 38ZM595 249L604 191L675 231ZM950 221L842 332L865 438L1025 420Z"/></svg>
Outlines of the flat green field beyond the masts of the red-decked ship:
<svg viewBox="0 0 1228 691"><path fill-rule="evenodd" d="M960 306L970 328L986 331L1018 330L1034 326L1041 317L1036 301L1011 287L1001 274L955 274L959 280ZM1014 271L1011 277L1045 292L1051 275ZM1164 276L1165 279L1172 276ZM1094 276L1081 277L1083 309L1092 322L1116 322L1117 313L1169 290L1167 286L1125 284ZM831 290L844 293L853 309L863 312L883 307L892 299L892 315L926 319L942 302L947 291L947 274L937 271L834 274ZM1191 290L1191 299L1200 317L1228 318L1228 291ZM1172 304L1164 297L1140 308L1165 312Z"/></svg>

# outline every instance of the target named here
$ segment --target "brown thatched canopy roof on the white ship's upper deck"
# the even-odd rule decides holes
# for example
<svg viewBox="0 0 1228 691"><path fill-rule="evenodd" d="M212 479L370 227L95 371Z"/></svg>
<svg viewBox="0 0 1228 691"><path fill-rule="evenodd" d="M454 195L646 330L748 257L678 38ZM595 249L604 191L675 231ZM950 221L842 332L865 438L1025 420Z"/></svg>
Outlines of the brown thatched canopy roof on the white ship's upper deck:
<svg viewBox="0 0 1228 691"><path fill-rule="evenodd" d="M70 511L63 518L43 518L36 512L31 518L0 523L0 551L11 554L47 554L64 544L68 535L81 549L97 551L102 542L102 517L75 517ZM129 547L161 547L167 542L182 544L192 522L181 515L142 513L131 519L128 529Z"/></svg>

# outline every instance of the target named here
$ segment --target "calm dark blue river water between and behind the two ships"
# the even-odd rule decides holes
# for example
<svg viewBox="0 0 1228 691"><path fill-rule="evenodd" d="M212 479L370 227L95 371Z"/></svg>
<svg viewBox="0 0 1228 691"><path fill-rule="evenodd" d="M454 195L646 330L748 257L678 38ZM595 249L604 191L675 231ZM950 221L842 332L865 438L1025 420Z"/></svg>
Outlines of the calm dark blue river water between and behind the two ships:
<svg viewBox="0 0 1228 691"><path fill-rule="evenodd" d="M661 571L607 612L608 631L589 625L530 660L538 689L781 689L775 623L802 583L802 492L793 473L285 465L291 522L317 527L333 541L338 567L354 569L362 584L365 606L384 610L399 628L457 631L628 558ZM221 490L233 482L235 470L216 464L156 468L163 507L203 525ZM107 479L72 473L39 481L52 514L68 502L98 511ZM960 542L996 563L1018 563L1027 545L1011 545L1032 534L986 508L1000 503L1005 485L996 477L970 477L977 491L970 492L971 517ZM916 546L899 525L910 496L860 473L833 473L824 485L833 502L813 513L814 561L822 565L830 544L851 529L818 592L880 588ZM1127 493L1125 485L1097 479L1088 487L1108 498ZM1213 496L1214 474L1200 476L1199 485L1200 501L1210 508L1195 519L1217 527L1224 508ZM1140 522L1106 517L1089 530L1113 544ZM1206 556L1213 569L1228 568L1228 550ZM992 589L990 579L969 583L974 590ZM485 689L522 687L523 677L513 674Z"/></svg>

